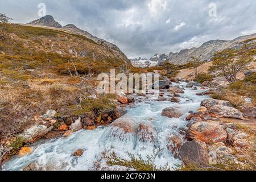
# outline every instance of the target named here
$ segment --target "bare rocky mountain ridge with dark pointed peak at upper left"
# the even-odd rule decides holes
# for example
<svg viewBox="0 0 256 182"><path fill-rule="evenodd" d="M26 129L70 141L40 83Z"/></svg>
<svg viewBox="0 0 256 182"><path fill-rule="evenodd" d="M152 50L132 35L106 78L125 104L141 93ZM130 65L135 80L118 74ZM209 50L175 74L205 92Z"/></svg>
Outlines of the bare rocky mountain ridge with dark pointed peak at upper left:
<svg viewBox="0 0 256 182"><path fill-rule="evenodd" d="M51 16L51 15L46 15L46 16L44 16L40 19L34 20L34 21L32 21L28 24L32 24L34 26L45 26L45 27L58 28L58 29L61 29L63 31L67 31L67 32L72 33L72 34L85 36L86 38L93 40L97 44L101 44L104 47L112 49L112 51L115 53L115 55L117 57L119 57L122 60L125 60L126 63L130 63L130 61L127 58L127 56L125 55L125 53L123 53L114 44L109 43L104 39L99 39L96 36L93 36L92 34L90 34L89 32L86 32L84 30L81 30L80 28L77 28L74 24L67 24L66 26L63 27L63 26L61 26L61 24L56 22L55 19L53 18L53 16Z"/></svg>

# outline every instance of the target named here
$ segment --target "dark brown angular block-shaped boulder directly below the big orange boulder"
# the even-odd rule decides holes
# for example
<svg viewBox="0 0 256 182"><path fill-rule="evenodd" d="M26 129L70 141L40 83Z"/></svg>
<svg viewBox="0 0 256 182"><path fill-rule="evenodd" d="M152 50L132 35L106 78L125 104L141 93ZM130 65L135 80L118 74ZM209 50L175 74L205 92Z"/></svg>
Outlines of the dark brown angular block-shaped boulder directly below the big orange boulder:
<svg viewBox="0 0 256 182"><path fill-rule="evenodd" d="M189 166L189 164L199 164L200 166L208 165L209 156L204 142L185 142L183 146L181 146L179 154L185 166Z"/></svg>

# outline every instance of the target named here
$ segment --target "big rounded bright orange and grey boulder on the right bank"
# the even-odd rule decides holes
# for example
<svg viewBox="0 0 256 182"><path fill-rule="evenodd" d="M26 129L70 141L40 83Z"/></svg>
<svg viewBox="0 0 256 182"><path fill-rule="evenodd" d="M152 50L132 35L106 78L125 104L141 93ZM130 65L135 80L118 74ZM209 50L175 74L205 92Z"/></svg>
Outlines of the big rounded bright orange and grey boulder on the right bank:
<svg viewBox="0 0 256 182"><path fill-rule="evenodd" d="M224 127L214 122L197 122L189 127L186 135L190 140L201 140L208 144L225 142L228 138Z"/></svg>

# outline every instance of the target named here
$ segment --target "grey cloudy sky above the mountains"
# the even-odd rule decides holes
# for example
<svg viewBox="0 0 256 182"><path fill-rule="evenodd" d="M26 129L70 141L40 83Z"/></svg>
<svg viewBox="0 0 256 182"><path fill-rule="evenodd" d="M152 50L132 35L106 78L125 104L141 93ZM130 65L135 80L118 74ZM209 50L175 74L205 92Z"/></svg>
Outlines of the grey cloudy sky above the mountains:
<svg viewBox="0 0 256 182"><path fill-rule="evenodd" d="M128 57L198 47L256 33L255 0L0 0L13 22L39 19L39 3L62 24L116 44ZM216 9L215 9L216 7Z"/></svg>

